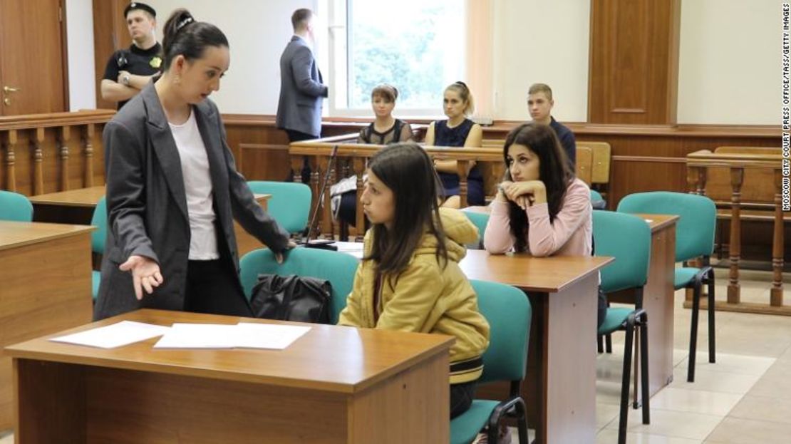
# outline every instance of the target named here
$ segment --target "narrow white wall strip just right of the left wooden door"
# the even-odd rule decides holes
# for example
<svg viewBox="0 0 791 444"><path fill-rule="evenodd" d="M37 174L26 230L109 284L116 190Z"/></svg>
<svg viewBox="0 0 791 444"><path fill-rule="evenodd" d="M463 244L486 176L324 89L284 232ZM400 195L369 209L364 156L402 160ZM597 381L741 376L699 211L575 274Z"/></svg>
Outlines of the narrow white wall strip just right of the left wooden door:
<svg viewBox="0 0 791 444"><path fill-rule="evenodd" d="M96 108L91 0L66 0L66 42L69 52L69 111Z"/></svg>

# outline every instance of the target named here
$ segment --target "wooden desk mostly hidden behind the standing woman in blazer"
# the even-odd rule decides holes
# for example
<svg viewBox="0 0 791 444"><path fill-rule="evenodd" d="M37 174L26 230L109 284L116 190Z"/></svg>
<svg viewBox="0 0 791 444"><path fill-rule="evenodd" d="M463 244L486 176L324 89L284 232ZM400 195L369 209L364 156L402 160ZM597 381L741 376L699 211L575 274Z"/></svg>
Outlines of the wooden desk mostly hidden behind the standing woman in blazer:
<svg viewBox="0 0 791 444"><path fill-rule="evenodd" d="M91 218L93 218L93 209L102 197L104 197L104 185L78 188L67 192L34 195L29 199L33 204L33 220L37 222L88 225L91 223ZM271 197L271 194L256 194L255 200L266 210L267 201ZM239 257L254 249L263 247L263 244L258 239L244 231L236 221L233 222L233 230L237 235Z"/></svg>

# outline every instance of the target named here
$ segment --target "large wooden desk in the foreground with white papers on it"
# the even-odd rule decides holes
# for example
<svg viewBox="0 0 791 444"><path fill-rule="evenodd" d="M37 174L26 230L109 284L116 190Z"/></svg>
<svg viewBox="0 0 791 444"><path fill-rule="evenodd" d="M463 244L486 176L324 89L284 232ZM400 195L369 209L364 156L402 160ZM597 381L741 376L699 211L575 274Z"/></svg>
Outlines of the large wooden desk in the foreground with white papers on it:
<svg viewBox="0 0 791 444"><path fill-rule="evenodd" d="M241 318L138 310L71 331L123 319ZM282 351L154 350L157 339L6 347L17 443L448 442L449 336L312 324Z"/></svg>

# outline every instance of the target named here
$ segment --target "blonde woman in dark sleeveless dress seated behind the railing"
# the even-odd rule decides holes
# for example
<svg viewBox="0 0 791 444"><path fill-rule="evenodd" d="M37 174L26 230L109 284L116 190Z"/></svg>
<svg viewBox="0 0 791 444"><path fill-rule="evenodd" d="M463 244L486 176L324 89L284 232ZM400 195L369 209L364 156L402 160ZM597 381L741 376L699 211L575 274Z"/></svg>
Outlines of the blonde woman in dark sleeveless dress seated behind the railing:
<svg viewBox="0 0 791 444"><path fill-rule="evenodd" d="M426 131L426 146L472 146L479 147L483 139L483 131L478 123L467 119L475 105L472 93L464 82L456 82L445 88L443 108L448 120L432 122ZM437 173L445 189L448 200L445 207L460 207L459 175L456 173L456 161L435 161ZM478 165L473 163L467 173L467 204L483 205L483 175Z"/></svg>

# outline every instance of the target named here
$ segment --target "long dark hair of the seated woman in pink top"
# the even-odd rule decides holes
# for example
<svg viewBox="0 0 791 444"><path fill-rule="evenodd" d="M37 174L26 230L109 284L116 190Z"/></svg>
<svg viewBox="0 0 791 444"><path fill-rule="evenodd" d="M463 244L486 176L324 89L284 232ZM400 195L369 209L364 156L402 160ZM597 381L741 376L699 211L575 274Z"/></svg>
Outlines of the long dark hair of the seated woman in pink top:
<svg viewBox="0 0 791 444"><path fill-rule="evenodd" d="M560 146L558 136L554 134L551 127L534 122L524 123L524 125L513 128L505 138L505 145L502 148L502 157L505 160L505 180L513 180L508 157L508 150L513 144L527 146L539 157L539 180L547 187L549 218L550 222L554 221L555 216L563 207L566 188L574 179L574 173L570 169L566 152ZM516 203L510 201L509 215L511 234L516 238L514 248L517 252L524 251L528 242L524 237L524 232L528 229L528 216Z"/></svg>

